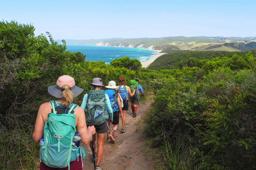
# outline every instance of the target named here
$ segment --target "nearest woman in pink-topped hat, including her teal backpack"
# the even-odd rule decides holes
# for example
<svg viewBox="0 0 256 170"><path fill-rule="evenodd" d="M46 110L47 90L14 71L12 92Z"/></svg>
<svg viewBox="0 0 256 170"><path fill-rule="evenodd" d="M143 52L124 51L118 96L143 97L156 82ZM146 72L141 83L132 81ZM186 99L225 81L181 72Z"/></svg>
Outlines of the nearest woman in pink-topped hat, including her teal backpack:
<svg viewBox="0 0 256 170"><path fill-rule="evenodd" d="M35 130L33 133L33 140L36 142L43 141L42 139L44 138L44 144L42 143L42 146L41 146L42 149L40 154L41 155L40 169L41 170L44 170L44 169L81 169L82 170L83 162L81 158L78 158L78 156L77 157L75 156L76 159L73 160L72 162L70 162L70 160L72 160L72 157L69 159L68 158L65 159L68 162L65 162L65 163L62 162L64 159L62 159L61 156L65 156L68 154L67 152L65 152L66 154L63 154L63 151L62 151L63 148L61 147L61 145L62 143L68 142L68 145L70 145L68 147L68 150L71 151L71 149L69 148L73 147L72 141L76 133L76 130L79 134L81 134L81 141L84 142L85 144L89 143L92 140L92 135L95 134L94 126L90 126L89 128L87 128L86 126L84 110L81 107L72 103L73 98L81 94L83 92L83 89L75 86L75 80L72 77L68 75L62 75L57 80L56 85L50 86L48 88L48 92L50 95L56 97L57 100L44 103L39 107L37 117L36 117ZM63 114L65 112L70 114ZM57 134L55 133L54 136L51 135L51 133L48 133L50 131L48 127L50 126L53 127L55 124L56 125L59 124L59 121L62 120L61 117L64 117L63 118L64 123L61 126L61 129L71 127L65 124L69 122L69 120L71 120L71 123L70 122L69 123L72 124L74 130L73 128L71 128L72 130L65 129L64 131L67 134L73 134L73 136L70 135L69 137L69 135L63 135L61 134L61 132ZM54 120L57 120L55 121L56 123L54 122ZM47 130L49 131L47 132ZM52 139L50 139L51 137ZM68 141L65 141L67 139ZM58 149L62 152L58 153L57 149L53 151L50 150L49 151L50 154L46 156L46 152L48 148L51 148L50 142L53 142L53 141L55 141L55 143L61 144L61 145L56 144L56 146L58 145L59 147ZM77 148L75 155L79 155L81 153L80 150L78 149L79 148ZM58 153L59 155L58 154L54 155L55 154L54 152ZM59 165L57 164L55 165L54 161L57 162ZM53 164L55 168L52 168ZM67 166L65 167L66 164ZM64 167L61 167L61 166L64 166Z"/></svg>

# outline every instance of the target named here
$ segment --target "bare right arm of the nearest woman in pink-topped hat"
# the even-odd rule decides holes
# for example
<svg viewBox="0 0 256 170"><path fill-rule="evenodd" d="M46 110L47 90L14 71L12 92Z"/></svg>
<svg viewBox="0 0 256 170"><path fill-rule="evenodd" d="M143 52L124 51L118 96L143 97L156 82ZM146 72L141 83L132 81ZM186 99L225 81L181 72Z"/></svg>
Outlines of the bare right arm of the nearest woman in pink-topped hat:
<svg viewBox="0 0 256 170"><path fill-rule="evenodd" d="M92 140L92 135L95 134L95 128L94 126L89 126L87 128L84 110L81 107L78 107L74 114L76 116L77 131L81 134L82 142L87 144Z"/></svg>

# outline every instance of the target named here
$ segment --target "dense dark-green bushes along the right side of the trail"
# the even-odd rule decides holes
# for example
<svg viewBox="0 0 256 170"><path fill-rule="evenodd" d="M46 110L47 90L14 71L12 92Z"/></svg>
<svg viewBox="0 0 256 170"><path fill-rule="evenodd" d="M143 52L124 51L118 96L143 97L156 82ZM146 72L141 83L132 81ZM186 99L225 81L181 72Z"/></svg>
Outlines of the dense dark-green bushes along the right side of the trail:
<svg viewBox="0 0 256 170"><path fill-rule="evenodd" d="M154 102L143 120L147 133L157 136L152 146L165 145L170 169L180 166L173 162L183 162L181 156L182 166L192 169L255 168L255 57L244 56L250 60L234 55L207 61L213 67L206 65L201 79L195 78L197 67L182 67L178 75L153 81ZM183 151L170 158L175 148Z"/></svg>

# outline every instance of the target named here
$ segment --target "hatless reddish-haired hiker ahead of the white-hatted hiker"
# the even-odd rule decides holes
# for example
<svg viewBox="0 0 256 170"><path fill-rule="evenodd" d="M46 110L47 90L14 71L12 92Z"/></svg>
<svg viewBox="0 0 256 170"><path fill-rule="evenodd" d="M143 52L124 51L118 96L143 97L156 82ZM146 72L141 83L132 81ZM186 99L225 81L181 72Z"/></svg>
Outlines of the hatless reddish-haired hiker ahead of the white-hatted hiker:
<svg viewBox="0 0 256 170"><path fill-rule="evenodd" d="M122 120L122 129L121 129L121 133L126 132L126 130L124 129L124 125L125 125L125 121L126 121L126 111L128 111L129 109L129 96L132 97L135 94L135 89L133 90L133 92L131 92L131 89L129 86L126 86L125 83L125 78L120 76L119 77L119 82L118 82L119 88L118 88L118 92L120 94L120 96L123 99L123 120Z"/></svg>

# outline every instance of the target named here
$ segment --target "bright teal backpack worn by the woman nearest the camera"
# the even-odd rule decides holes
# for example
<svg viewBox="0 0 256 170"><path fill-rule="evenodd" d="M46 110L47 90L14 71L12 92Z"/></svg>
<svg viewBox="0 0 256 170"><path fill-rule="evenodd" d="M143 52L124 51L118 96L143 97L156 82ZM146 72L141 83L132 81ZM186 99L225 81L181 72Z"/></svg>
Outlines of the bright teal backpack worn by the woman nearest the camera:
<svg viewBox="0 0 256 170"><path fill-rule="evenodd" d="M80 147L72 145L76 134L76 117L71 112L77 105L70 104L68 113L57 114L54 103L55 101L50 101L53 113L48 114L44 125L44 145L40 146L40 162L53 168L70 169L69 163L79 155L82 157Z"/></svg>

